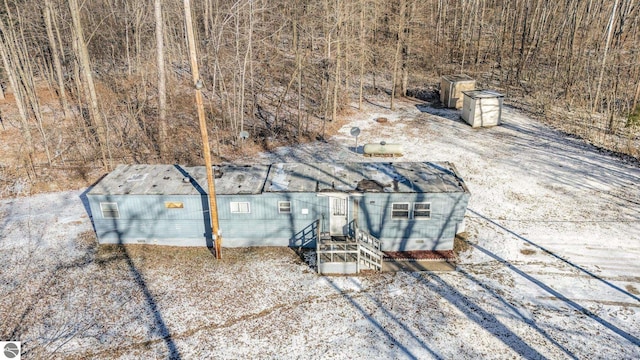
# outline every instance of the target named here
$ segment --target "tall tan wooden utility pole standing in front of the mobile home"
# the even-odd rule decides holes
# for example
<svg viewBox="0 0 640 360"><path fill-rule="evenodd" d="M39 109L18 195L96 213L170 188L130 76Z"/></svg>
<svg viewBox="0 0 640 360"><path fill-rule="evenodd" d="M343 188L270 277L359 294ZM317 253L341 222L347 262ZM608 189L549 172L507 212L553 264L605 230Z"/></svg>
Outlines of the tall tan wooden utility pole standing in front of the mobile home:
<svg viewBox="0 0 640 360"><path fill-rule="evenodd" d="M211 150L209 149L209 136L207 135L207 123L204 118L204 106L202 105L202 80L198 71L198 60L196 56L196 41L193 36L193 22L191 21L191 4L189 0L184 0L184 19L187 28L187 40L189 42L189 59L191 61L191 74L193 75L193 86L196 91L196 106L198 108L198 119L200 121L200 134L202 135L202 151L204 152L204 164L207 168L207 184L209 192L209 214L211 217L211 229L213 235L213 246L216 251L216 258L221 259L222 236L220 235L220 225L218 224L218 205L216 203L216 189L213 179L213 167L211 165Z"/></svg>

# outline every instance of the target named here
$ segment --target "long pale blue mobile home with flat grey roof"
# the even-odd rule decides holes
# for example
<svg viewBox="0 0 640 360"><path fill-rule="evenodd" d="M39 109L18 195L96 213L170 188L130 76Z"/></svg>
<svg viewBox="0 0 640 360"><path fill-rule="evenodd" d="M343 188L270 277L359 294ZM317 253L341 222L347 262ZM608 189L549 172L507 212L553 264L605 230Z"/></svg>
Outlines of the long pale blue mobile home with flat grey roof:
<svg viewBox="0 0 640 360"><path fill-rule="evenodd" d="M451 163L214 167L223 247L317 247L356 234L381 251L451 250L469 191ZM88 192L101 244L212 246L205 167L120 165Z"/></svg>

